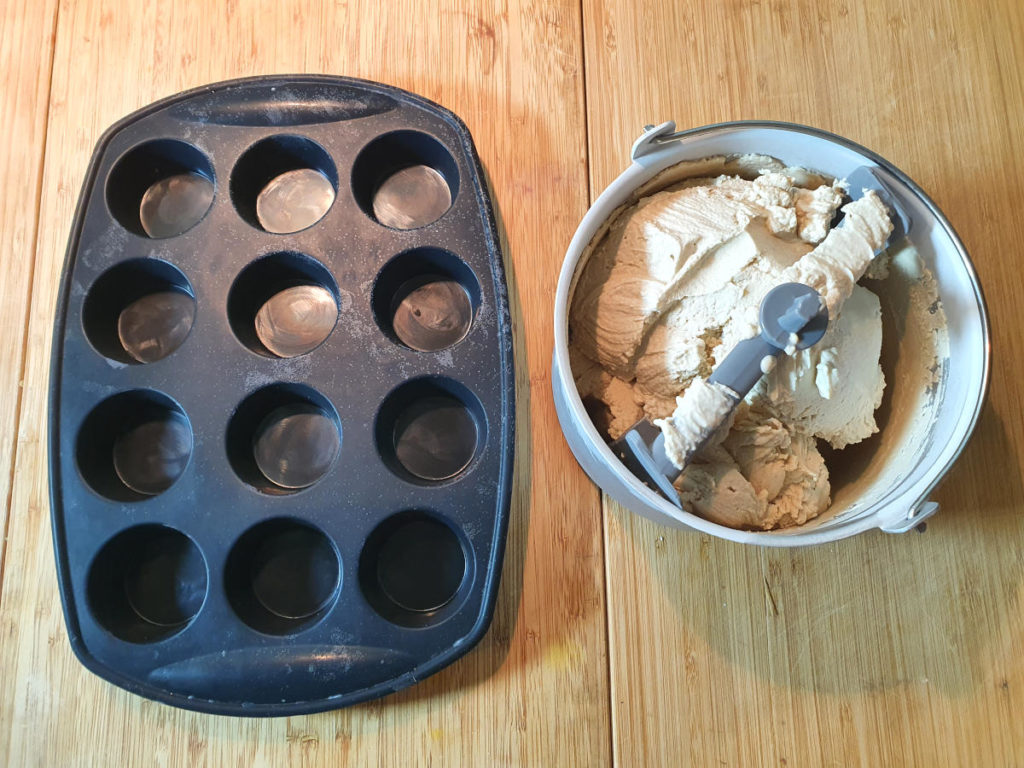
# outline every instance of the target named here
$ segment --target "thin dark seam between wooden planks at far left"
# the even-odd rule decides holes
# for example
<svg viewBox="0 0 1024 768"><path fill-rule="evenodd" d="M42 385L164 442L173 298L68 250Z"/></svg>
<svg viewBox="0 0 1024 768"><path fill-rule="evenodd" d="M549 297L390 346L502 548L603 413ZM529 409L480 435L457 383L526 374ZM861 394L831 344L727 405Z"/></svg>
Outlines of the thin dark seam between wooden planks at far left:
<svg viewBox="0 0 1024 768"><path fill-rule="evenodd" d="M29 253L35 256L36 248L39 245L39 222L42 220L42 202L43 202L43 173L46 166L46 137L50 128L50 96L53 92L53 59L56 56L56 38L57 38L57 17L60 15L60 3L55 3L53 8L53 22L50 25L50 57L48 61L48 71L46 72L46 108L45 108L45 118L43 120L43 135L40 138L40 153L39 153L39 175L36 181L36 188L34 190L35 207L34 207L34 218L32 223L32 240L29 247ZM7 531L10 527L10 506L14 498L14 468L17 466L17 447L18 447L18 435L20 434L22 426L22 401L25 397L25 368L26 360L28 359L29 351L29 317L32 314L32 294L35 289L35 276L36 276L36 259L33 257L29 259L29 286L28 292L26 293L25 301L25 311L23 313L24 323L22 324L22 348L18 353L17 365L17 396L14 401L14 424L13 431L10 434L10 466L7 467L7 475L10 481L7 485L7 498L4 499L4 515L3 515L3 537L0 538L0 595L3 594L3 584L4 584L4 572L7 568Z"/></svg>

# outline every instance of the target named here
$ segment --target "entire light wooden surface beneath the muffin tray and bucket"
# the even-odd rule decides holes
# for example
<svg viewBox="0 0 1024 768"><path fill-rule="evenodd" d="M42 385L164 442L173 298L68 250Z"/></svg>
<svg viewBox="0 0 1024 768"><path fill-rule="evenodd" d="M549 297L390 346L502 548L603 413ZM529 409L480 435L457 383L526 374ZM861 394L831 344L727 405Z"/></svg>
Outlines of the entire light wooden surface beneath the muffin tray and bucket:
<svg viewBox="0 0 1024 768"><path fill-rule="evenodd" d="M0 13L0 760L1024 766L1017 0L8 0ZM49 337L102 129L186 87L281 72L381 80L466 120L510 268L519 458L480 646L380 701L237 720L131 696L70 650L46 489ZM766 551L660 528L610 502L602 512L561 438L551 302L589 198L643 123L739 118L809 123L878 151L933 196L974 258L992 318L990 397L924 535Z"/></svg>

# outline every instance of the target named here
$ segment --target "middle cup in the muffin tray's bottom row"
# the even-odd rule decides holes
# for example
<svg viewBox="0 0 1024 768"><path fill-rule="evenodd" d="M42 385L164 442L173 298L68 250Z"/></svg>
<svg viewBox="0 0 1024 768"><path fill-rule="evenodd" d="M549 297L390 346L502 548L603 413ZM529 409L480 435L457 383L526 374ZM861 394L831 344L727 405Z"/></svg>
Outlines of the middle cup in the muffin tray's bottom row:
<svg viewBox="0 0 1024 768"><path fill-rule="evenodd" d="M338 551L323 532L291 518L261 522L231 548L224 589L239 618L266 635L316 624L341 587Z"/></svg>

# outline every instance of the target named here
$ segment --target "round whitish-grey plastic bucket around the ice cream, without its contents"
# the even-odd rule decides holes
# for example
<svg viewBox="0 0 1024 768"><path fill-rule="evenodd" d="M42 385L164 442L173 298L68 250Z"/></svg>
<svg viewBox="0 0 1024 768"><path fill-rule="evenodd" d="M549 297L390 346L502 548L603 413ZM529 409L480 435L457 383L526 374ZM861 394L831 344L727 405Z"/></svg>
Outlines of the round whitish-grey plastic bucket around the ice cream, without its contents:
<svg viewBox="0 0 1024 768"><path fill-rule="evenodd" d="M952 226L904 173L858 144L825 131L788 123L743 121L675 133L671 122L650 127L633 145L633 163L595 201L569 244L555 296L552 388L565 439L587 474L612 499L655 522L694 528L744 544L775 547L837 541L870 528L902 532L938 508L928 495L949 470L974 430L989 373L989 330L974 266ZM574 275L588 247L603 234L617 209L656 190L652 180L682 161L715 156L767 155L844 177L866 166L882 178L913 222L910 241L935 276L948 327L949 356L941 362L936 395L929 399L927 429L898 435L894 447L871 458L871 477L855 493L804 525L749 531L719 525L679 509L630 473L611 453L587 415L569 367L568 309ZM952 362L950 362L952 361ZM887 381L891 381L887 376ZM888 386L888 384L887 384ZM886 426L882 425L883 435ZM867 475L865 475L867 477Z"/></svg>

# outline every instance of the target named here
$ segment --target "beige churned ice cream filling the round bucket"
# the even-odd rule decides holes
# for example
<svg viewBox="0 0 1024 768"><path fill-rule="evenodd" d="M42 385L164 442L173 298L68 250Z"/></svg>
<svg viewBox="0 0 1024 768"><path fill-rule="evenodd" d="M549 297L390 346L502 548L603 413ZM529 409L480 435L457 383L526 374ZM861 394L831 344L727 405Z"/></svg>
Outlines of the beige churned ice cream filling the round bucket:
<svg viewBox="0 0 1024 768"><path fill-rule="evenodd" d="M577 386L609 439L654 420L681 465L701 420L727 410L707 379L759 333L765 294L811 286L828 307L824 338L767 361L676 483L689 511L716 522L800 524L830 504L821 446L878 431L881 306L858 282L886 275L886 254L876 254L889 212L873 193L853 190L851 202L842 180L770 158L710 159L690 173L698 175L642 197L595 239L569 311Z"/></svg>

